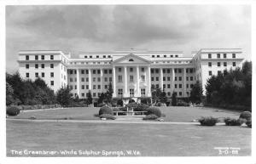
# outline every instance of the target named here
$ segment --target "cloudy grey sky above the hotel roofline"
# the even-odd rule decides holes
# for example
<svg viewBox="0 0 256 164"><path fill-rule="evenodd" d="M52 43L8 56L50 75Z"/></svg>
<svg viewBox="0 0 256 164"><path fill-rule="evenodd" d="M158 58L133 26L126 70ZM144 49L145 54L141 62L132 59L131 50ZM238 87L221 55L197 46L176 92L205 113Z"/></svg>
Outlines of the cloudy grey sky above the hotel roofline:
<svg viewBox="0 0 256 164"><path fill-rule="evenodd" d="M6 71L20 50L242 48L251 59L249 5L6 6Z"/></svg>

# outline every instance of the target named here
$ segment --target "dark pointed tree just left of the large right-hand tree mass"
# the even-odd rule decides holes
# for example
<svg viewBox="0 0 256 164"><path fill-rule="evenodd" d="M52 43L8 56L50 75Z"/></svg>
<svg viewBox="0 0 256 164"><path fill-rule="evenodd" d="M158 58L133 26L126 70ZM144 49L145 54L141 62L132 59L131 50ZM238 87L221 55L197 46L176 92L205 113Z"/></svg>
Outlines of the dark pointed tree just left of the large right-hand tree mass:
<svg viewBox="0 0 256 164"><path fill-rule="evenodd" d="M195 104L200 104L201 103L201 98L203 96L203 91L201 88L201 83L199 81L195 82L194 87L192 88L190 92L190 101Z"/></svg>

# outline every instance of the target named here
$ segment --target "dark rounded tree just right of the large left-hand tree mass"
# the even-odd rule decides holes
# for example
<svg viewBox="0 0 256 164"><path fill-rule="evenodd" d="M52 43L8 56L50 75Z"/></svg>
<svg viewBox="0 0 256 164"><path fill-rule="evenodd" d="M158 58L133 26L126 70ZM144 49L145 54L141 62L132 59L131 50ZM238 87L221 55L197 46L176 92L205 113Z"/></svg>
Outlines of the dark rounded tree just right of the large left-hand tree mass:
<svg viewBox="0 0 256 164"><path fill-rule="evenodd" d="M71 89L70 88L60 88L57 91L56 97L57 101L60 103L62 106L68 106L72 103L72 93L70 93Z"/></svg>

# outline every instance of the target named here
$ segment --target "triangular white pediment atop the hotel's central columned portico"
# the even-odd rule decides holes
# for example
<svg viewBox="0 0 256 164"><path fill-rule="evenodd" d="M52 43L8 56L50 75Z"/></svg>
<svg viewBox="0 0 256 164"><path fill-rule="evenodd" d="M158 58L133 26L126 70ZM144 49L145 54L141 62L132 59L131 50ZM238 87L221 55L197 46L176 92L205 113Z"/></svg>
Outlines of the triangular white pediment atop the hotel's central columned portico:
<svg viewBox="0 0 256 164"><path fill-rule="evenodd" d="M127 54L119 59L113 60L113 63L117 64L149 64L151 63L148 59L137 56L135 54Z"/></svg>

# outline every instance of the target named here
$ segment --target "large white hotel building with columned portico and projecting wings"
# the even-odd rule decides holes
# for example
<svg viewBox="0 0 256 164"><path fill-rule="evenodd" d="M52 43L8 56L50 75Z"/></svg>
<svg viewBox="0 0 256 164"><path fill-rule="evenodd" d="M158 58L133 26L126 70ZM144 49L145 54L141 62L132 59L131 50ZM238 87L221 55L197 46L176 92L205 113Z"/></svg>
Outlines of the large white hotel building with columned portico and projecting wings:
<svg viewBox="0 0 256 164"><path fill-rule="evenodd" d="M189 97L198 80L205 88L207 78L225 69L241 66L240 48L206 48L183 57L181 51L113 51L82 52L71 58L57 50L19 52L19 71L23 78L40 77L57 91L67 85L73 96L93 99L113 86L113 98L151 97L151 87L163 88L168 98Z"/></svg>

